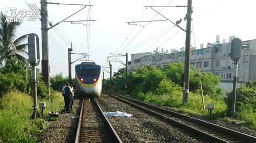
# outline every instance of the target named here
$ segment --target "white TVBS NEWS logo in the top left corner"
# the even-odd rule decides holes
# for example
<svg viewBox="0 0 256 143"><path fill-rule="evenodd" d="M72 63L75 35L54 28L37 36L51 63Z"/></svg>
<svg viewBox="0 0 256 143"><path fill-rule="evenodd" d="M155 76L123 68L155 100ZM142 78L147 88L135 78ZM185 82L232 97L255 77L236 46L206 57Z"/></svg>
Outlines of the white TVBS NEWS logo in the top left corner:
<svg viewBox="0 0 256 143"><path fill-rule="evenodd" d="M22 23L26 17L28 21L35 21L39 15L40 10L35 3L26 3L29 6L28 10L17 8L6 8L5 22L19 22Z"/></svg>

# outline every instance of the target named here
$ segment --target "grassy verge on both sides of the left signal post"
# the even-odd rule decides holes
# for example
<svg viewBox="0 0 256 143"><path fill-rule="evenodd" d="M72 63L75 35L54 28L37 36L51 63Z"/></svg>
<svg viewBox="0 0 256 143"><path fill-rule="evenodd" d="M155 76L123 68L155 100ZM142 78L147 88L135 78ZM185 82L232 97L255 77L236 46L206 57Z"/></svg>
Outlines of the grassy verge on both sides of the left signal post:
<svg viewBox="0 0 256 143"><path fill-rule="evenodd" d="M48 118L49 111L59 111L64 105L62 95L54 93L51 98L51 103L45 101L45 118ZM29 119L32 98L22 92L11 91L0 100L0 142L35 142L35 134L46 126L41 119Z"/></svg>

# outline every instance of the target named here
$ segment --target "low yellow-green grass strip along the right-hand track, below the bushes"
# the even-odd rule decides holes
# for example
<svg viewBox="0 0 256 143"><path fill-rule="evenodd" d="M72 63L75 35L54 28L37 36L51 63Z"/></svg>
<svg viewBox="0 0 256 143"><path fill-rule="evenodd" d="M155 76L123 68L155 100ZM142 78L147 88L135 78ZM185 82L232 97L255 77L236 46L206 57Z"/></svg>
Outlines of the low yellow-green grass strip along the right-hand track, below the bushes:
<svg viewBox="0 0 256 143"><path fill-rule="evenodd" d="M164 95L155 95L152 94L152 92L147 92L146 94L143 94L140 92L136 98L141 99L146 102L158 104L161 106L169 106L172 107L174 110L181 111L184 113L190 113L194 115L200 115L200 116L207 116L207 109L203 109L203 103L201 100L201 96L194 94L193 92L190 92L190 95L188 97L188 102L183 105L183 95L182 94L176 94L176 95L170 95L170 94L164 94ZM227 106L223 99L213 99L209 96L204 97L205 105L207 106L207 103L213 103L214 109L212 111L212 117L211 118L219 118L221 116L224 116L224 113L227 109Z"/></svg>

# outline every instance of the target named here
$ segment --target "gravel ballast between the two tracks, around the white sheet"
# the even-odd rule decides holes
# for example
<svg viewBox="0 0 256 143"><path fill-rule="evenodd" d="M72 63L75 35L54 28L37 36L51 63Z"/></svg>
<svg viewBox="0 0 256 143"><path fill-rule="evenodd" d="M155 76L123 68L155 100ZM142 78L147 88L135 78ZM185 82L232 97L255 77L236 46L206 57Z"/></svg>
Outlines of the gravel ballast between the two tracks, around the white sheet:
<svg viewBox="0 0 256 143"><path fill-rule="evenodd" d="M104 112L126 112L132 117L107 117L124 142L159 142L159 141L189 141L197 142L194 135L181 131L160 119L147 115L123 102L109 96L102 96L96 101Z"/></svg>

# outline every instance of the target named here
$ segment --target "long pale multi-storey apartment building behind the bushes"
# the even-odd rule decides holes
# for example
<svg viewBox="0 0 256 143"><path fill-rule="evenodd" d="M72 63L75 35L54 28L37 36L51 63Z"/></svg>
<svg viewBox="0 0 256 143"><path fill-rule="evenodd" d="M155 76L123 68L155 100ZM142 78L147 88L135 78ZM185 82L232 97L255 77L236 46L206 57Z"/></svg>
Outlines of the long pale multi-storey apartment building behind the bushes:
<svg viewBox="0 0 256 143"><path fill-rule="evenodd" d="M199 68L203 72L212 72L221 77L221 82L232 82L234 64L230 57L231 41L219 42L219 36L214 44L208 43L206 47L201 44L200 49L191 47L191 66ZM145 52L131 55L129 69L139 68L143 65L153 65L156 68L163 68L172 62L184 61L185 48L180 50L165 50L158 48L153 52ZM256 80L256 39L242 41L241 58L238 65L238 82Z"/></svg>

